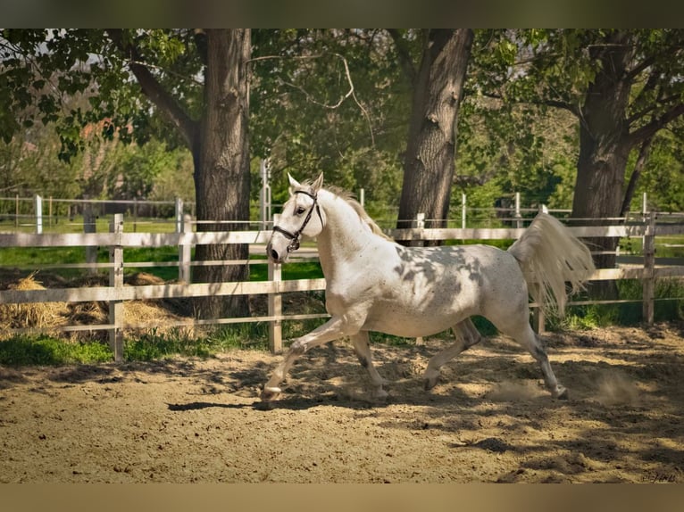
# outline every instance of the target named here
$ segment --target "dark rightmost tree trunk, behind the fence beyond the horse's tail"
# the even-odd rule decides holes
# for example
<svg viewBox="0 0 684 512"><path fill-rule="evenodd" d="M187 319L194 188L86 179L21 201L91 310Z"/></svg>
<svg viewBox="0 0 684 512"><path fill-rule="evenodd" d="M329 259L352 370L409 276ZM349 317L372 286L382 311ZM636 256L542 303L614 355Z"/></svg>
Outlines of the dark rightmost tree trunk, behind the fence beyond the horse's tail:
<svg viewBox="0 0 684 512"><path fill-rule="evenodd" d="M589 84L580 112L580 157L571 214L583 224L610 225L613 220L600 219L620 215L631 150L625 112L630 100L626 72L633 48L628 34L613 32L605 45L590 50L599 60L600 70ZM599 252L594 257L596 268L614 268L617 238L590 238L586 242L593 252ZM606 285L595 285L593 293L614 296L614 285Z"/></svg>

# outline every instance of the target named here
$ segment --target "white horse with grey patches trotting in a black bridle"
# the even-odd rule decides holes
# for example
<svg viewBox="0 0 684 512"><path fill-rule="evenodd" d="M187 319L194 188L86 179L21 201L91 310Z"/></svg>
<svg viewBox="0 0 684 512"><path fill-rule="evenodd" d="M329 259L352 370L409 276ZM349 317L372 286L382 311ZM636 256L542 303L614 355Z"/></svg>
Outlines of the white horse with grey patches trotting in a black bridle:
<svg viewBox="0 0 684 512"><path fill-rule="evenodd" d="M425 370L430 390L446 361L480 342L473 315L488 318L530 351L552 396L567 398L530 327L529 293L544 309L555 307L562 315L565 282L576 291L594 265L587 247L558 220L539 213L508 251L488 245L405 247L384 235L358 202L322 188L322 174L313 184L301 185L291 176L289 182L290 199L266 251L281 263L299 247L301 236L317 238L331 318L294 340L264 385L263 401L278 396L280 383L305 351L343 336L351 338L368 370L373 396L384 398L386 382L372 365L369 331L418 337L451 327L456 342L432 357Z"/></svg>

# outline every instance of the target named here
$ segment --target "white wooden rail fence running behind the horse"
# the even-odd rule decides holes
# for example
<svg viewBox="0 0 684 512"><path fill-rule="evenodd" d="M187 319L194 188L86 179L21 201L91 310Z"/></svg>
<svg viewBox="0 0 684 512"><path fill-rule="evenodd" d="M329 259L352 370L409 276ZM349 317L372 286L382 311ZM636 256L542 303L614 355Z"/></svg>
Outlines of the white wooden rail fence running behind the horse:
<svg viewBox="0 0 684 512"><path fill-rule="evenodd" d="M643 258L634 265L619 268L596 269L591 280L640 279L643 286L644 320L652 323L654 319L655 280L665 277L684 277L684 266L656 265L655 237L663 235L684 235L681 223L658 223L658 216L651 213L642 222L631 222L616 226L570 227L574 235L580 237L640 237L643 239ZM420 226L420 224L418 224ZM52 288L46 290L4 290L0 291L0 303L29 302L83 302L105 301L109 303L109 323L88 326L63 326L62 331L107 330L114 358L121 360L123 355L122 330L124 328L150 328L156 325L127 325L124 323L123 308L126 301L190 298L207 295L267 294L268 314L262 317L249 318L214 318L206 320L188 320L174 324L175 326L220 325L244 322L270 323L271 351L282 350L283 320L305 318L324 318L324 314L282 314L282 293L324 290L324 279L282 280L280 265L269 263L267 281L191 284L188 281L190 265L197 264L241 264L245 260L194 262L189 261L190 248L196 244L265 244L270 231L238 231L238 232L194 232L189 220L177 233L127 233L123 230L123 216L116 214L110 224L109 233L71 233L71 234L25 234L0 233L0 247L73 247L73 246L106 246L110 249L110 262L96 264L97 268L109 268L109 286L92 286L83 288ZM396 240L496 240L515 239L524 231L524 227L515 228L443 228L388 230L388 235ZM179 250L179 283L166 285L123 286L123 269L129 267L158 266L159 263L132 262L129 265L123 260L124 247L163 247L176 246ZM252 260L254 263L255 261ZM171 263L176 265L175 263ZM2 265L2 261L0 261ZM91 264L92 265L92 264ZM56 265L55 265L56 266ZM60 267L70 267L61 265ZM85 265L71 265L85 267ZM183 282L184 281L184 282ZM611 301L605 301L611 302ZM614 302L614 301L613 301ZM570 305L595 304L597 301L574 301ZM534 304L532 304L535 307ZM544 328L544 318L538 315L538 330ZM13 329L22 332L34 329Z"/></svg>

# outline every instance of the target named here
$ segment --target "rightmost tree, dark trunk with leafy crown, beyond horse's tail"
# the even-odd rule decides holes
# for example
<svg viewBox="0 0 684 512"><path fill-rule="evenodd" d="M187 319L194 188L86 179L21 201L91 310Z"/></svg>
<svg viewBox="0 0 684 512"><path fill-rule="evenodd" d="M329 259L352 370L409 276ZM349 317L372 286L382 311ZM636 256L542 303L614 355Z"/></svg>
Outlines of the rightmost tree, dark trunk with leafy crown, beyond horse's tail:
<svg viewBox="0 0 684 512"><path fill-rule="evenodd" d="M487 94L571 112L580 134L575 219L616 218L630 205L649 147L684 113L681 29L503 30ZM628 186L630 153L638 153ZM613 267L617 239L588 240L596 264ZM604 293L602 291L601 293Z"/></svg>

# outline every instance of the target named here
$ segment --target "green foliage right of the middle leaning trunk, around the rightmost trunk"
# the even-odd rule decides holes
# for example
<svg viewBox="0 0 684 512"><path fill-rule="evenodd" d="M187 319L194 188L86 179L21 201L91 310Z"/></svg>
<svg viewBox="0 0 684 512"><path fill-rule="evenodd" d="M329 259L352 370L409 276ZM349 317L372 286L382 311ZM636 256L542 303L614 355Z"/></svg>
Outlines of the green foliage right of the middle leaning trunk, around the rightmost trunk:
<svg viewBox="0 0 684 512"><path fill-rule="evenodd" d="M656 137L641 190L649 191L653 204L675 210L681 206L679 182L675 183L681 173L681 120L676 114L667 116L680 108L684 91L682 37L678 29L476 32L469 95L459 125L457 169L479 183L498 180L504 193L517 189L531 200L528 204L536 200L569 208L580 149L576 134L578 123L584 122L588 87L601 73L614 71L602 70L604 55L616 47L627 48L627 70L615 80L630 87L630 102L626 111L609 115L626 120L622 129L636 143L652 123L656 124L651 133L671 129ZM633 163L638 144L631 151ZM629 166L623 170L630 173Z"/></svg>

